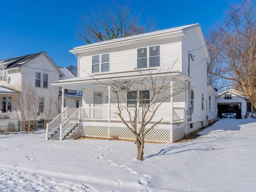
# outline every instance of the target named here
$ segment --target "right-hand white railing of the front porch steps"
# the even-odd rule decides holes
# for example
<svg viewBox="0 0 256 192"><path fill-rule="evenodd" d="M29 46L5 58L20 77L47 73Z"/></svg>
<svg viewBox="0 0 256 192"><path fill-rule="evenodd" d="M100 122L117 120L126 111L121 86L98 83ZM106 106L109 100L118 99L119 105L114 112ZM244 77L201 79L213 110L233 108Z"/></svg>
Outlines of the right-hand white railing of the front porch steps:
<svg viewBox="0 0 256 192"><path fill-rule="evenodd" d="M60 124L60 141L81 119L81 108L78 108L63 123Z"/></svg>

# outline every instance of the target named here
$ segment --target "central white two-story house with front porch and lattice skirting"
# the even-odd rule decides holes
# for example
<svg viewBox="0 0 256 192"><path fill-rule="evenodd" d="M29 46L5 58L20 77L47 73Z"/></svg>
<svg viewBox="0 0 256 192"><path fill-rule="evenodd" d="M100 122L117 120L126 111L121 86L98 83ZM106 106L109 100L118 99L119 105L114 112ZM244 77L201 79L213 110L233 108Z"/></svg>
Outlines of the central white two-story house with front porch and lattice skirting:
<svg viewBox="0 0 256 192"><path fill-rule="evenodd" d="M140 78L138 70L145 73L150 70L154 75L154 71L172 65L171 73L166 74L179 78L170 83L187 86L190 82L191 90L175 95L157 110L154 121L162 117L163 120L149 132L146 140L173 142L215 121L215 97L218 94L206 83L206 58L209 53L204 45L201 26L194 24L75 47L70 52L77 57L78 77L62 79L52 85L61 86L62 91L83 90L82 108L75 113L74 109L63 110L47 126L46 139L62 140L79 136L110 138L113 135L119 139L134 139L115 114L116 100L110 87L98 81L107 84L118 79ZM190 60L188 74L191 50L195 50L191 52L195 62ZM196 61L201 61L200 65ZM162 71L161 74L165 74ZM157 78L163 77L159 75ZM175 87L170 91L173 89ZM149 90L142 91L151 94ZM122 102L123 105L129 105L125 99ZM67 113L73 114L70 116Z"/></svg>

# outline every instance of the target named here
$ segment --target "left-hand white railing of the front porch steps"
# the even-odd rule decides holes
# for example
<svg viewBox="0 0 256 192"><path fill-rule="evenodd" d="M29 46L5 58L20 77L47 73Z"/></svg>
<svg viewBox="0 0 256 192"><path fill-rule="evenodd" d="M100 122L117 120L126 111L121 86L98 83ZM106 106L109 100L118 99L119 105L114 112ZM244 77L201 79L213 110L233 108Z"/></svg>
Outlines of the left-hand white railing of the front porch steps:
<svg viewBox="0 0 256 192"><path fill-rule="evenodd" d="M48 140L49 135L58 129L60 124L63 122L65 119L65 116L67 116L68 108L65 108L57 117L52 119L50 123L46 124L46 140Z"/></svg>

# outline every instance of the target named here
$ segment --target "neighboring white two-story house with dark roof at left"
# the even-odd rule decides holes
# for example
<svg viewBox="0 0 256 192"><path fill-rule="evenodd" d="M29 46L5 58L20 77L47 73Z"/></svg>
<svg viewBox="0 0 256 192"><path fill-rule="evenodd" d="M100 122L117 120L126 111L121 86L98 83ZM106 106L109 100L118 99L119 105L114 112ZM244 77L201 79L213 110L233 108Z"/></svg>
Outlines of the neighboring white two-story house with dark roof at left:
<svg viewBox="0 0 256 192"><path fill-rule="evenodd" d="M55 65L46 52L0 60L0 131L21 130L21 95L28 121L35 119L36 122L43 122L43 119L51 120L57 116L60 108L59 87L51 83L68 78L62 70L65 68ZM79 95L79 102L81 98L82 95ZM32 103L31 100L35 102L27 104ZM30 113L28 106L31 107Z"/></svg>

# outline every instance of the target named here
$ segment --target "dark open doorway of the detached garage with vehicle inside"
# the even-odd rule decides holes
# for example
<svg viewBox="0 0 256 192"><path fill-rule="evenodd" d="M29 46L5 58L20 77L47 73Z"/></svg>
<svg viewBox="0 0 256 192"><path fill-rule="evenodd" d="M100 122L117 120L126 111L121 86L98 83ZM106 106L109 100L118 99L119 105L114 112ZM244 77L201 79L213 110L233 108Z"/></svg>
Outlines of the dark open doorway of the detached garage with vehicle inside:
<svg viewBox="0 0 256 192"><path fill-rule="evenodd" d="M242 118L241 103L218 103L219 118Z"/></svg>

